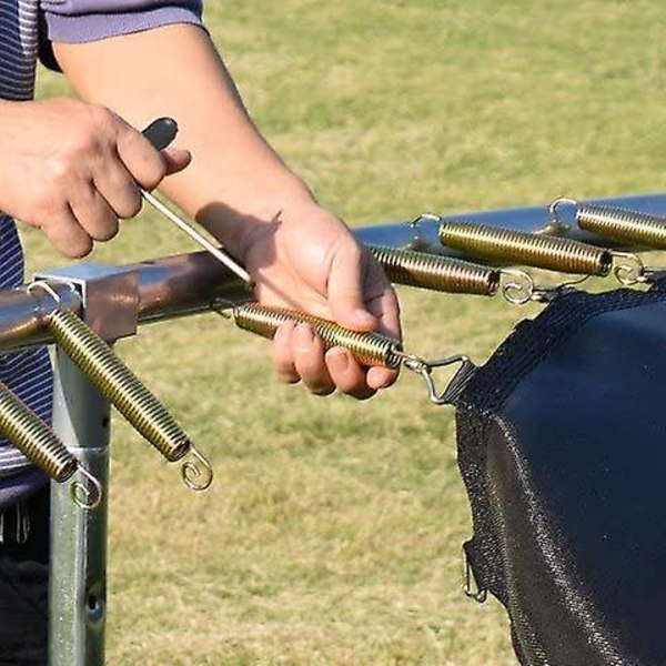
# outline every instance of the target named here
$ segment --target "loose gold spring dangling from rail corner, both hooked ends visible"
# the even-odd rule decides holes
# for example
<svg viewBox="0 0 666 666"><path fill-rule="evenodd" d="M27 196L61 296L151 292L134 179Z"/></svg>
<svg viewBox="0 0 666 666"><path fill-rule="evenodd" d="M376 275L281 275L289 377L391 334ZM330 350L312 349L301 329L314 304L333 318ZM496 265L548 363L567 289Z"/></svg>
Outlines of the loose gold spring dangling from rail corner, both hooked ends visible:
<svg viewBox="0 0 666 666"><path fill-rule="evenodd" d="M185 461L181 467L183 482L193 491L208 488L213 481L210 462L109 344L77 314L62 307L58 292L48 282L36 281L28 289L32 292L41 290L53 299L54 307L47 314L46 324L72 362L170 463L191 453L194 460Z"/></svg>

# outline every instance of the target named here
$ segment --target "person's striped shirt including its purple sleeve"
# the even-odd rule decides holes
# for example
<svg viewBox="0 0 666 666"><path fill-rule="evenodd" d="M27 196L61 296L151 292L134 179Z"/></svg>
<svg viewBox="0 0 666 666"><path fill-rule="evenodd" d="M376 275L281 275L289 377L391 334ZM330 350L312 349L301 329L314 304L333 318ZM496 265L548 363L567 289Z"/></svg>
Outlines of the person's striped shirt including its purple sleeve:
<svg viewBox="0 0 666 666"><path fill-rule="evenodd" d="M52 41L87 42L170 23L200 24L201 0L0 0L0 99L32 99L41 19L46 19ZM17 229L13 220L0 213L0 289L22 283L23 255ZM50 421L48 350L0 356L0 381ZM0 512L44 483L42 473L0 438Z"/></svg>

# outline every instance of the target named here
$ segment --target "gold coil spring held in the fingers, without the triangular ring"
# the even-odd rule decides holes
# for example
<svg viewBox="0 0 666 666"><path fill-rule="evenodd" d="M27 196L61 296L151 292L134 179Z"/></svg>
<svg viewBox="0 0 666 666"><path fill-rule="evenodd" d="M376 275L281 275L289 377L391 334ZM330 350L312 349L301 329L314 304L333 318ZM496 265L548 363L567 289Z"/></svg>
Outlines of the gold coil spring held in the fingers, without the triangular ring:
<svg viewBox="0 0 666 666"><path fill-rule="evenodd" d="M232 317L239 329L272 340L278 329L287 321L310 324L324 343L326 350L343 346L362 365L397 367L401 363L402 345L398 340L382 333L361 333L304 312L285 307L266 307L259 303L231 306L224 301L212 304L218 313Z"/></svg>

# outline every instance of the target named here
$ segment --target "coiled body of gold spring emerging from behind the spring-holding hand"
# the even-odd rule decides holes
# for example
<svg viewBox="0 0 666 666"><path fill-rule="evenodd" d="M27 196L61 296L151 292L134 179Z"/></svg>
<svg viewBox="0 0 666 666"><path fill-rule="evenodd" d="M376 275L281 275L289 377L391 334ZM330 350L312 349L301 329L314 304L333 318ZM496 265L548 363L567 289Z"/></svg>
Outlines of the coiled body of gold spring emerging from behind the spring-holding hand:
<svg viewBox="0 0 666 666"><path fill-rule="evenodd" d="M494 295L500 287L501 273L496 269L413 250L383 245L369 249L394 284L484 296Z"/></svg>

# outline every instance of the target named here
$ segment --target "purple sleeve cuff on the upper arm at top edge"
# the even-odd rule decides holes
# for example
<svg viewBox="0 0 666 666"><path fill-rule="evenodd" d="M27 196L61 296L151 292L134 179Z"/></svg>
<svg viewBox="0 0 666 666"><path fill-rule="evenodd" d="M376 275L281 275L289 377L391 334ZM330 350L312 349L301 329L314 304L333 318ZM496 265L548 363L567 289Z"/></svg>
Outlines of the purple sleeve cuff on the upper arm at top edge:
<svg viewBox="0 0 666 666"><path fill-rule="evenodd" d="M171 23L201 26L202 0L41 0L49 41L81 43Z"/></svg>

